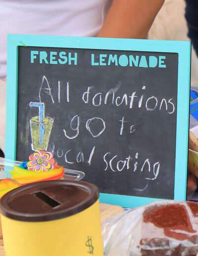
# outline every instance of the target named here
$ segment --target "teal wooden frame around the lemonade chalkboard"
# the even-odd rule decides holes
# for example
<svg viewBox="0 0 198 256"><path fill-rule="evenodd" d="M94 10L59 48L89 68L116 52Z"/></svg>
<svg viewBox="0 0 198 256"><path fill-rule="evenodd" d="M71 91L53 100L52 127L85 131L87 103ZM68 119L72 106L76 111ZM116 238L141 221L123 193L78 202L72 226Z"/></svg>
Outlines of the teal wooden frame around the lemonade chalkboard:
<svg viewBox="0 0 198 256"><path fill-rule="evenodd" d="M5 158L11 160L15 160L16 154L18 46L178 53L178 100L174 200L186 200L191 68L190 42L8 35ZM164 184L164 188L165 186L166 185ZM100 194L101 202L121 205L124 207L135 207L149 203L153 200L159 200L159 198L105 193Z"/></svg>

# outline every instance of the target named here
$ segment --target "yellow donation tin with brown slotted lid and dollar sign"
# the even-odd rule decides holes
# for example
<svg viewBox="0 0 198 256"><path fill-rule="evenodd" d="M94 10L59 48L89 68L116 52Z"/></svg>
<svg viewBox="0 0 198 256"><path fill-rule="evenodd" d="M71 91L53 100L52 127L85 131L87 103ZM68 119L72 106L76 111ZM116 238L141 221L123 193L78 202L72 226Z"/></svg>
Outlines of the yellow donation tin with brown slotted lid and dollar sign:
<svg viewBox="0 0 198 256"><path fill-rule="evenodd" d="M103 256L99 193L87 182L28 184L1 198L6 256Z"/></svg>

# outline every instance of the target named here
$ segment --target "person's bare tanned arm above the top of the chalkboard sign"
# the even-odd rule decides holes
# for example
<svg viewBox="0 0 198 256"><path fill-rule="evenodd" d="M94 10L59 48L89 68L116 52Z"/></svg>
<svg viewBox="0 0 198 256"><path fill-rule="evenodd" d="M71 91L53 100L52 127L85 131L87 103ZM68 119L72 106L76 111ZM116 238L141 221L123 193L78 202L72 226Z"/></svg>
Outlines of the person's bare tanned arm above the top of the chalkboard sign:
<svg viewBox="0 0 198 256"><path fill-rule="evenodd" d="M98 37L146 38L163 2L164 0L113 0Z"/></svg>

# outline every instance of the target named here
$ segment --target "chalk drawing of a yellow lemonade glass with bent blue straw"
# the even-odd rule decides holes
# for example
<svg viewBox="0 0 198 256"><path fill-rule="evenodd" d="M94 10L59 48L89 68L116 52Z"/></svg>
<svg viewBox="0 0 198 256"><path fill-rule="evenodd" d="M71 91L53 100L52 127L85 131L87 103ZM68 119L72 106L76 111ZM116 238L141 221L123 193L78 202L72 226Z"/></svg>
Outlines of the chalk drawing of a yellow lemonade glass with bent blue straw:
<svg viewBox="0 0 198 256"><path fill-rule="evenodd" d="M39 108L39 116L30 119L32 150L47 150L53 119L45 117L44 103L30 102L29 106Z"/></svg>

